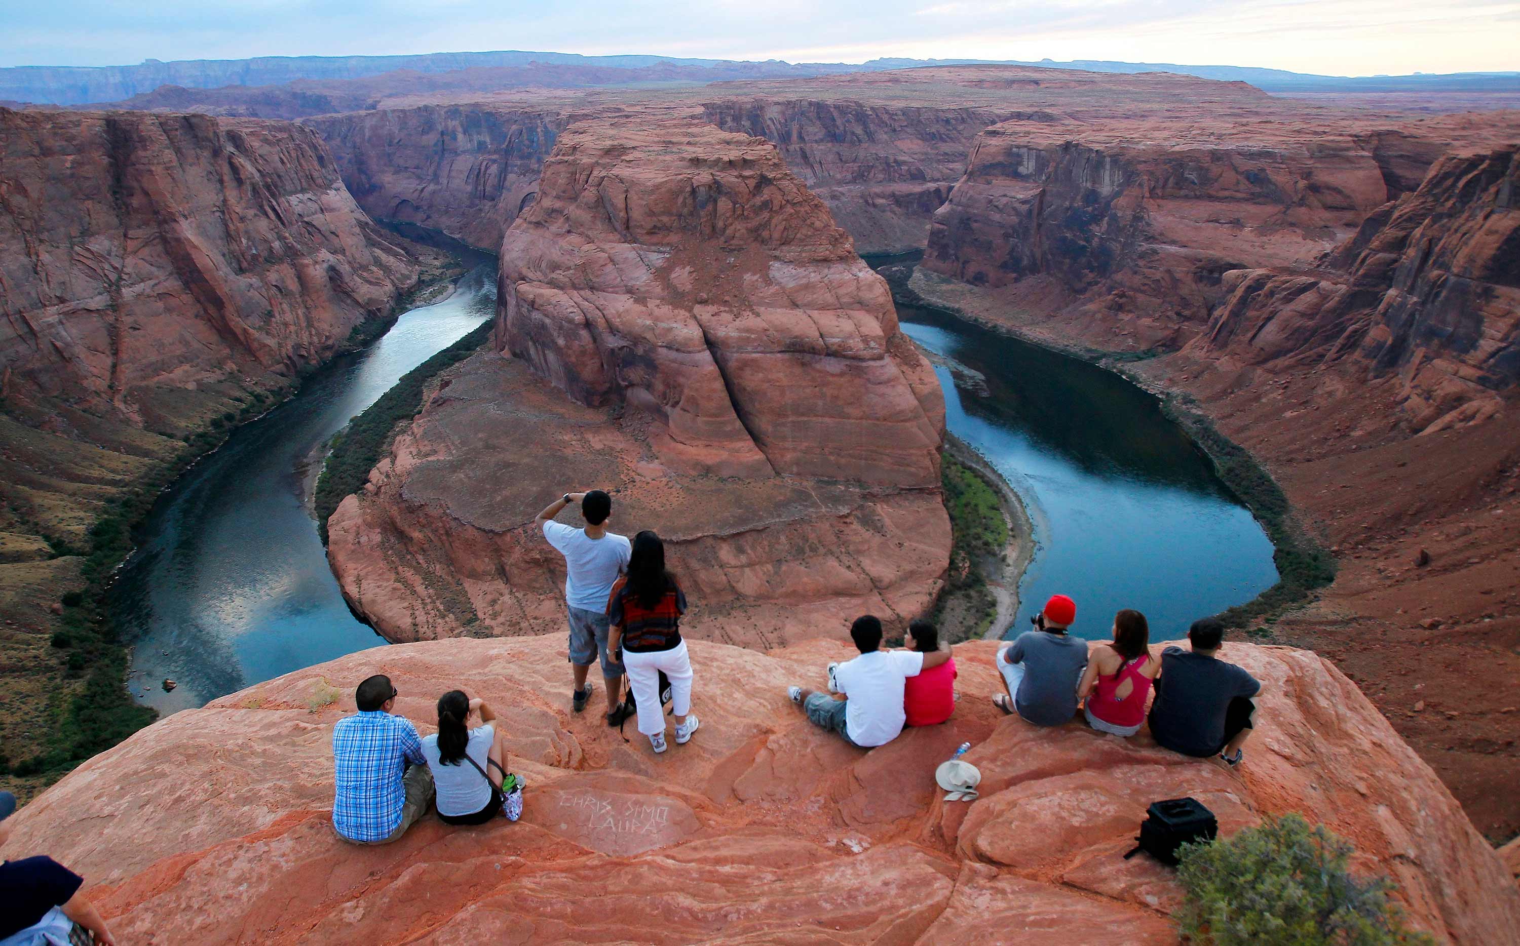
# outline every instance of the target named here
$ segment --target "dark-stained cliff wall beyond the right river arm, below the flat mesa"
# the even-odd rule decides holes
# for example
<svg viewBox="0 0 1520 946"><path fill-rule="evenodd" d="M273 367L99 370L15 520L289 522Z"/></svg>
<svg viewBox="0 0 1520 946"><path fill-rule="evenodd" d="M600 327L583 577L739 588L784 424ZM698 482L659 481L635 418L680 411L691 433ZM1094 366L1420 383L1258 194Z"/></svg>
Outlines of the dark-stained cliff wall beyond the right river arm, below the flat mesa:
<svg viewBox="0 0 1520 946"><path fill-rule="evenodd" d="M1207 320L1224 272L1310 261L1389 199L1379 161L1348 134L1248 131L997 125L935 214L924 267L993 289L1044 281L1175 346Z"/></svg>

